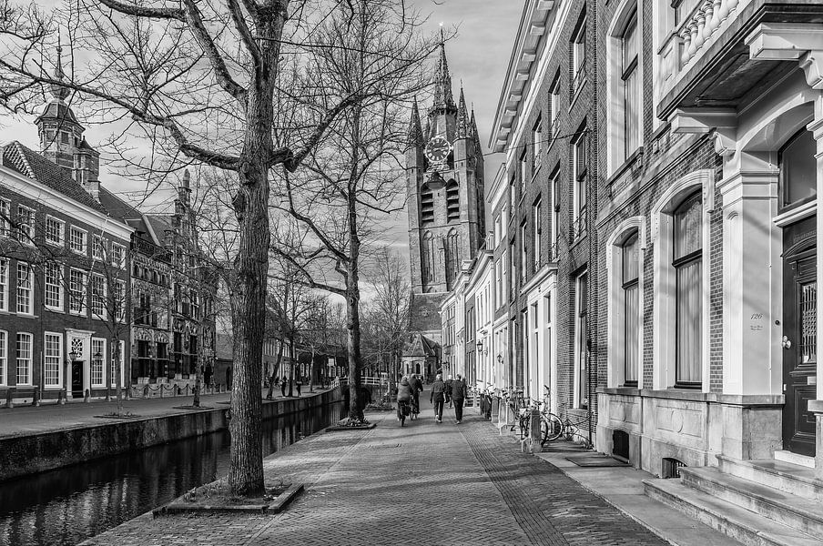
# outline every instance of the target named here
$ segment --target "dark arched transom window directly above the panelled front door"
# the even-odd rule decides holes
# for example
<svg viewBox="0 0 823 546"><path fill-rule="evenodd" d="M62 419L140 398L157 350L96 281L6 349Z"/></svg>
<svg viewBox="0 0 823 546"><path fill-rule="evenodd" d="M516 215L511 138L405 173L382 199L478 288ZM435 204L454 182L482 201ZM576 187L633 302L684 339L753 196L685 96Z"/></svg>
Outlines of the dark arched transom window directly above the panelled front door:
<svg viewBox="0 0 823 546"><path fill-rule="evenodd" d="M814 136L805 127L780 149L781 207L805 203L817 195L816 153Z"/></svg>

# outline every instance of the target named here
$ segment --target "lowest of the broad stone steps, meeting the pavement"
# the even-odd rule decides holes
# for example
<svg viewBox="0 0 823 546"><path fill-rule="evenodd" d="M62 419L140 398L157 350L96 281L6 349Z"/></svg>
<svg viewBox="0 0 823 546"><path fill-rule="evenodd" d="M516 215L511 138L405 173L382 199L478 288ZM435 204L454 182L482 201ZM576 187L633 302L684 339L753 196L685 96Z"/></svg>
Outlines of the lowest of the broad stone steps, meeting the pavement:
<svg viewBox="0 0 823 546"><path fill-rule="evenodd" d="M682 472L684 469L681 469ZM820 540L695 490L680 480L644 480L645 494L746 546L820 546Z"/></svg>

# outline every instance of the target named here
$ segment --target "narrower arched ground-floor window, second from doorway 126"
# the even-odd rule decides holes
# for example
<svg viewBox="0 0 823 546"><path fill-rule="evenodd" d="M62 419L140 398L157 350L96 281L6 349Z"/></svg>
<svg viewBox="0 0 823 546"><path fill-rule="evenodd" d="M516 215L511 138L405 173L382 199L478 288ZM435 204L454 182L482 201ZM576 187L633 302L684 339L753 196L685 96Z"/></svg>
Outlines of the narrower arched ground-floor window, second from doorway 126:
<svg viewBox="0 0 823 546"><path fill-rule="evenodd" d="M635 231L623 244L623 259L621 260L621 284L624 308L624 383L626 386L631 387L637 386L637 369L640 364L640 349L637 345L637 337L640 334L639 247L639 238Z"/></svg>

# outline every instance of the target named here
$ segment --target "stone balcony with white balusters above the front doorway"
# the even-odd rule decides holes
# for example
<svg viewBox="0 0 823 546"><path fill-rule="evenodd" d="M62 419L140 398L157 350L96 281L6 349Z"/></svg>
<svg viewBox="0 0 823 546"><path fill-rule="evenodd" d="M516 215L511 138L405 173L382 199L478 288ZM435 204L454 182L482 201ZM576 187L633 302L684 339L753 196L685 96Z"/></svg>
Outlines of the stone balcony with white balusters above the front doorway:
<svg viewBox="0 0 823 546"><path fill-rule="evenodd" d="M658 50L661 119L677 108L735 108L755 86L767 88L796 69L798 59L823 40L823 4L817 0L681 5L691 9L679 14Z"/></svg>

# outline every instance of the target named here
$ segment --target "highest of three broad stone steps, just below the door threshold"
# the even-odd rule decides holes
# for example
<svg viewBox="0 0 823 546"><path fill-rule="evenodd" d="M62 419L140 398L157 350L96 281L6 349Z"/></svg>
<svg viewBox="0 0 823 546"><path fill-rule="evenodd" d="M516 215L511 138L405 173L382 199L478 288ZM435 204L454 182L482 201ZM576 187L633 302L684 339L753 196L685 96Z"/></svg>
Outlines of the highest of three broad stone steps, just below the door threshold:
<svg viewBox="0 0 823 546"><path fill-rule="evenodd" d="M823 501L823 480L815 471L781 460L738 460L717 455L720 470L727 474L756 481L776 490L786 491L815 501Z"/></svg>

